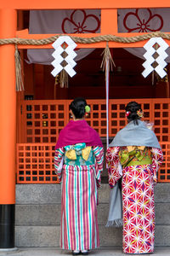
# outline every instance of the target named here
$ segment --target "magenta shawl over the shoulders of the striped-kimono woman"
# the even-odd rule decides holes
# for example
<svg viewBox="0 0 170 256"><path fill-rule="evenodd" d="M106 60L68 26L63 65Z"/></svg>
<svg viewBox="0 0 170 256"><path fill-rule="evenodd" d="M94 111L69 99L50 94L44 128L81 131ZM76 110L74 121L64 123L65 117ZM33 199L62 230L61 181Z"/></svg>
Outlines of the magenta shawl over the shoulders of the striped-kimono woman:
<svg viewBox="0 0 170 256"><path fill-rule="evenodd" d="M86 120L71 120L65 128L59 132L56 148L62 148L77 143L86 143L88 146L103 147L99 134L90 127Z"/></svg>

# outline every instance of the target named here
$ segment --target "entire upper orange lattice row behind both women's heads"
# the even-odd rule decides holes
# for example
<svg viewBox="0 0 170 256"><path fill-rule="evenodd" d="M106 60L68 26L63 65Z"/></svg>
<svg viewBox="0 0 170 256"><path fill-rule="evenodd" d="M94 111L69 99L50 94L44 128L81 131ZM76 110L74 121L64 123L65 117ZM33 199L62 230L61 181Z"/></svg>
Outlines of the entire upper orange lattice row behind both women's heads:
<svg viewBox="0 0 170 256"><path fill-rule="evenodd" d="M144 120L154 123L154 131L160 142L170 139L170 99L110 100L109 136L114 137L127 124L125 106L136 101L144 110ZM59 131L69 122L71 101L23 101L20 103L19 143L56 143ZM105 100L88 100L91 107L87 121L100 137L106 137Z"/></svg>

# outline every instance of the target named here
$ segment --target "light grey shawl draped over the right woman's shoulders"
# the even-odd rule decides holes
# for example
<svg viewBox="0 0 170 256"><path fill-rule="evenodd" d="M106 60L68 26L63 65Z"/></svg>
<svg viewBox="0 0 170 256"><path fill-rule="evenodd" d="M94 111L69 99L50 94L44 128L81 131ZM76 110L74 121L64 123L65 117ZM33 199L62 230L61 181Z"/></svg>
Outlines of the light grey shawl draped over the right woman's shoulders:
<svg viewBox="0 0 170 256"><path fill-rule="evenodd" d="M139 120L139 125L133 121L128 123L121 131L118 131L109 147L145 146L160 148L157 137L153 131L147 128L144 122Z"/></svg>

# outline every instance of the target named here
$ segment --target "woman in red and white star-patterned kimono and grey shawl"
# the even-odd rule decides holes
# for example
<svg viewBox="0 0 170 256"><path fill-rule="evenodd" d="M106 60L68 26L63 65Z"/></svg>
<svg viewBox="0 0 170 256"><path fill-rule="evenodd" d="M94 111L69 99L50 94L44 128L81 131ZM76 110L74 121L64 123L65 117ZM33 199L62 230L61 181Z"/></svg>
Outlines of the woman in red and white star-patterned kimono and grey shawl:
<svg viewBox="0 0 170 256"><path fill-rule="evenodd" d="M137 102L127 104L126 116L128 124L107 149L109 184L114 188L122 178L123 252L153 253L154 185L163 155Z"/></svg>

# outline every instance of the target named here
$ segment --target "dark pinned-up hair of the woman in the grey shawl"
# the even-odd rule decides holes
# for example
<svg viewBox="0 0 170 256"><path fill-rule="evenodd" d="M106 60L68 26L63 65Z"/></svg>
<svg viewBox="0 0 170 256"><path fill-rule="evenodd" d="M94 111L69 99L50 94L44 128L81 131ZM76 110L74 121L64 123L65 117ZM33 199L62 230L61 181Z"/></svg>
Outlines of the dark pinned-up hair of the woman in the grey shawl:
<svg viewBox="0 0 170 256"><path fill-rule="evenodd" d="M137 111L142 111L141 105L138 102L129 102L125 110L130 112L127 116L128 122L133 121L134 125L139 125L138 120L140 119L140 117Z"/></svg>

